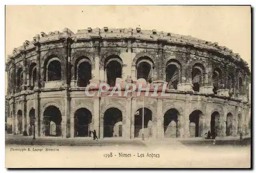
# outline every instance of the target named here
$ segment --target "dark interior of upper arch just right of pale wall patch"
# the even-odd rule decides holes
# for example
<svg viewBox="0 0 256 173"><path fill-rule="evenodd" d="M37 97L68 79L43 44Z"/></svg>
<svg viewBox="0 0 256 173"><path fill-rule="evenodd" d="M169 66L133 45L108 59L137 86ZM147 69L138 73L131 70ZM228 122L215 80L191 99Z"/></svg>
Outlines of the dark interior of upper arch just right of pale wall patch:
<svg viewBox="0 0 256 173"><path fill-rule="evenodd" d="M151 65L147 62L139 63L137 67L137 79L143 78L146 82L152 82L152 68Z"/></svg>

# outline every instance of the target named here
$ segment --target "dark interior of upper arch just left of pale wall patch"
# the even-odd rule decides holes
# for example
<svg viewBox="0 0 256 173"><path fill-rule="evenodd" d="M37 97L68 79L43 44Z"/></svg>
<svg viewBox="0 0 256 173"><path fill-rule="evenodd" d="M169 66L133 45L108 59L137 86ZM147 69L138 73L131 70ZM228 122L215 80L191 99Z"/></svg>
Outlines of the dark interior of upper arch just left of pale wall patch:
<svg viewBox="0 0 256 173"><path fill-rule="evenodd" d="M115 87L116 78L122 78L122 66L118 61L111 61L106 66L106 80L110 87Z"/></svg>

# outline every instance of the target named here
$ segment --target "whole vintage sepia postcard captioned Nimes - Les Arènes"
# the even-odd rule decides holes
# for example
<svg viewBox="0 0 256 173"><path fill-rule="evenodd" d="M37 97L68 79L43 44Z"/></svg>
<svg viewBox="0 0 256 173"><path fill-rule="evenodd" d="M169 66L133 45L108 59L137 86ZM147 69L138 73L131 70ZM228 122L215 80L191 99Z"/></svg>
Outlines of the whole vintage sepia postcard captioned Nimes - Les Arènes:
<svg viewBox="0 0 256 173"><path fill-rule="evenodd" d="M6 168L250 168L250 6L6 6Z"/></svg>

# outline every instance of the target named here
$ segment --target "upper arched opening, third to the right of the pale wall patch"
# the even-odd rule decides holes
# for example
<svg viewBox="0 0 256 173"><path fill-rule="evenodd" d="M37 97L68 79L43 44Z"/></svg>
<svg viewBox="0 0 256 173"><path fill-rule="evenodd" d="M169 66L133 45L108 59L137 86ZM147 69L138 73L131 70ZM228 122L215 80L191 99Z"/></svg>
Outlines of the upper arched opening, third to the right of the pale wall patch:
<svg viewBox="0 0 256 173"><path fill-rule="evenodd" d="M203 80L204 67L200 63L196 63L192 68L192 84L193 90L199 92Z"/></svg>

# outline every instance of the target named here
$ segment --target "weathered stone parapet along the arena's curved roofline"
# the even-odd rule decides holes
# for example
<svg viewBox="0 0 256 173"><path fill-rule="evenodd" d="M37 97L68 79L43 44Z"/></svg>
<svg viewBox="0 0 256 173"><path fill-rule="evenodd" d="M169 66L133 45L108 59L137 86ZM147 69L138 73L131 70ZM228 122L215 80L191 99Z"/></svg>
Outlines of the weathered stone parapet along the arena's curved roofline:
<svg viewBox="0 0 256 173"><path fill-rule="evenodd" d="M15 58L18 54L26 52L35 48L35 44L38 42L46 44L47 42L71 38L72 40L90 40L90 39L138 39L145 41L163 41L166 43L172 43L177 45L189 45L199 49L207 49L210 51L215 51L221 53L224 56L230 56L234 60L242 61L244 66L248 68L248 63L244 61L239 54L233 53L232 50L227 47L219 46L217 42L210 42L201 39L197 39L191 36L184 36L174 33L166 33L163 31L156 30L141 30L140 28L124 28L124 29L111 29L104 27L103 29L99 28L88 28L83 30L77 30L77 33L74 34L70 29L64 28L61 32L54 31L49 32L48 34L41 32L40 35L37 34L33 37L32 41L26 40L24 44L18 48L14 48L10 56L8 56L8 61L11 58ZM249 68L248 68L249 69Z"/></svg>

